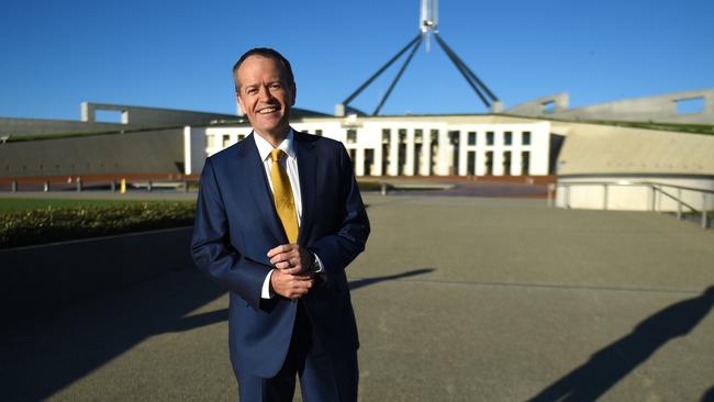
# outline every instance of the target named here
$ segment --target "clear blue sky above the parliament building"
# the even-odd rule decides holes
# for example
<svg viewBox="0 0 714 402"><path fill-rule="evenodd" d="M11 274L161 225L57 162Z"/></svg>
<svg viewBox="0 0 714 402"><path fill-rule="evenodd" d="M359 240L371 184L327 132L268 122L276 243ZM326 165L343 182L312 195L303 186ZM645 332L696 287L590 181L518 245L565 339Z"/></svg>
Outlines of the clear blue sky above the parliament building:
<svg viewBox="0 0 714 402"><path fill-rule="evenodd" d="M442 0L442 37L507 105L714 87L714 1ZM49 1L0 8L0 116L79 119L81 101L233 113L250 47L292 63L300 108L332 112L419 32L419 0ZM484 112L432 43L384 114ZM371 111L398 66L353 104Z"/></svg>

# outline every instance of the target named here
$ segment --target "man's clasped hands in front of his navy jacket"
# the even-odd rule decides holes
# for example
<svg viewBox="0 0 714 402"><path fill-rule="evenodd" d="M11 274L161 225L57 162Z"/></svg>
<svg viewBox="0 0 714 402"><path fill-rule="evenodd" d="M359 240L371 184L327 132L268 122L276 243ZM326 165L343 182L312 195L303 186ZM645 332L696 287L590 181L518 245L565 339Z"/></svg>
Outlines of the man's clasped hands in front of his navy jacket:
<svg viewBox="0 0 714 402"><path fill-rule="evenodd" d="M310 272L315 256L297 244L283 244L268 252L268 258L276 269L270 276L270 288L288 299L305 295L314 284L314 272Z"/></svg>

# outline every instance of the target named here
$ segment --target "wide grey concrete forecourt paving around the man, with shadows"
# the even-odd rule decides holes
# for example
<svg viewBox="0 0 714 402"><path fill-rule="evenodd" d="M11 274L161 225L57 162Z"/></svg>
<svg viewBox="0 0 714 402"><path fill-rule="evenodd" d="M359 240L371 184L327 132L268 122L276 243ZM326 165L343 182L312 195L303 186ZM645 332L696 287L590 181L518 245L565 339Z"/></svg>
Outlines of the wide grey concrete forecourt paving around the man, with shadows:
<svg viewBox="0 0 714 402"><path fill-rule="evenodd" d="M361 401L714 398L714 231L543 200L366 201L348 268ZM183 269L3 327L0 400L233 401L226 305Z"/></svg>

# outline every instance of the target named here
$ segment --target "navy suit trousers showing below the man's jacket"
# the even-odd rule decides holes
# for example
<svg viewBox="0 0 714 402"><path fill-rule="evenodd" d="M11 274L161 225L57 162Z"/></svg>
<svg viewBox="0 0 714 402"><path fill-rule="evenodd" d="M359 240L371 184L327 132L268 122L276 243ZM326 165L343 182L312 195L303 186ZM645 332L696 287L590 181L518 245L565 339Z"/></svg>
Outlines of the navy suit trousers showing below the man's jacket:
<svg viewBox="0 0 714 402"><path fill-rule="evenodd" d="M272 378L236 372L242 402L290 402L295 377L304 402L356 402L359 370L357 350L344 361L331 361L314 332L302 301L298 301L295 324L288 356Z"/></svg>

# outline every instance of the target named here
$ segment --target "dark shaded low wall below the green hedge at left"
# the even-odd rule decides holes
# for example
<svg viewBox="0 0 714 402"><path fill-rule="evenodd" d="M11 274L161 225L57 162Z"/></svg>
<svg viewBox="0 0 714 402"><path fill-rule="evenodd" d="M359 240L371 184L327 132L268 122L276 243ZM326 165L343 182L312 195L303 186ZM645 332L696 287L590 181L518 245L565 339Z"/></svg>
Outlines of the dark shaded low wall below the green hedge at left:
<svg viewBox="0 0 714 402"><path fill-rule="evenodd" d="M0 315L31 319L169 270L191 269L191 227L0 249Z"/></svg>

